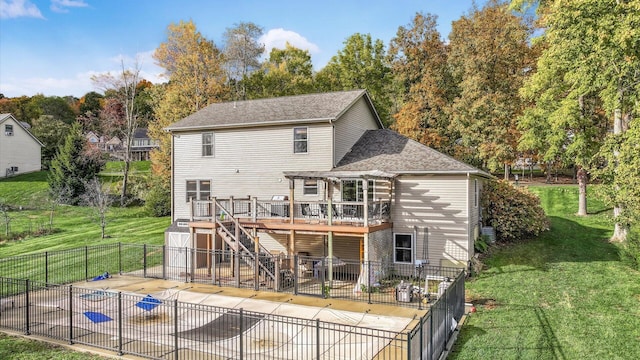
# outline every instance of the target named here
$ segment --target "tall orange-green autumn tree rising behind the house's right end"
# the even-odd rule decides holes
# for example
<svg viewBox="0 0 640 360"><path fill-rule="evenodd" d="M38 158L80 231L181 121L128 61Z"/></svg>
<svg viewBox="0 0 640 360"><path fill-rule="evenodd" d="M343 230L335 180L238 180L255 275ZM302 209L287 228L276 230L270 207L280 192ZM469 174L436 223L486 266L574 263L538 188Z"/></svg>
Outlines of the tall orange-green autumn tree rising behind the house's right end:
<svg viewBox="0 0 640 360"><path fill-rule="evenodd" d="M449 36L449 64L461 89L452 127L484 167L504 167L505 178L517 157L518 89L532 66L531 32L525 19L492 0L454 21Z"/></svg>

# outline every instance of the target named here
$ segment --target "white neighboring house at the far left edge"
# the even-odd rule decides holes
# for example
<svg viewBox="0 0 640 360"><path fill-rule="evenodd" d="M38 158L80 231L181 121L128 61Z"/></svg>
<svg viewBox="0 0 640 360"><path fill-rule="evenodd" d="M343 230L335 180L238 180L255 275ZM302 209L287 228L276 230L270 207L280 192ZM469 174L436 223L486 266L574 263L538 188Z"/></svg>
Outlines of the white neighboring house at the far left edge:
<svg viewBox="0 0 640 360"><path fill-rule="evenodd" d="M0 177L39 171L44 146L11 114L0 114Z"/></svg>

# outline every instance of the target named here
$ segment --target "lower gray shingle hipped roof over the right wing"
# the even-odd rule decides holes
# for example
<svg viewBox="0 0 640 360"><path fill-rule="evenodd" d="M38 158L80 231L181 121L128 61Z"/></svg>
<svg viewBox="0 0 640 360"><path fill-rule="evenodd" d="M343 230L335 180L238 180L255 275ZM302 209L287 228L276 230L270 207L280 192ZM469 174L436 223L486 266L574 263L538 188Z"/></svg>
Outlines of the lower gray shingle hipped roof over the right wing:
<svg viewBox="0 0 640 360"><path fill-rule="evenodd" d="M491 175L387 129L367 130L333 169Z"/></svg>

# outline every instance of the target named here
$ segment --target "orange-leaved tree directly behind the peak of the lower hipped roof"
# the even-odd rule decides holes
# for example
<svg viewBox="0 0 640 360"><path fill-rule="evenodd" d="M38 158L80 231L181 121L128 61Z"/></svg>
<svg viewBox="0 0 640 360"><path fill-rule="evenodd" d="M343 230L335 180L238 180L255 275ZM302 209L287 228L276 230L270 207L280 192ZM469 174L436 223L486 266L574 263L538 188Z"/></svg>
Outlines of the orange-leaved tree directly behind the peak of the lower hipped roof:
<svg viewBox="0 0 640 360"><path fill-rule="evenodd" d="M449 130L448 108L457 88L436 20L433 15L417 13L391 40L389 56L401 98L393 127L409 138L453 154L455 137Z"/></svg>

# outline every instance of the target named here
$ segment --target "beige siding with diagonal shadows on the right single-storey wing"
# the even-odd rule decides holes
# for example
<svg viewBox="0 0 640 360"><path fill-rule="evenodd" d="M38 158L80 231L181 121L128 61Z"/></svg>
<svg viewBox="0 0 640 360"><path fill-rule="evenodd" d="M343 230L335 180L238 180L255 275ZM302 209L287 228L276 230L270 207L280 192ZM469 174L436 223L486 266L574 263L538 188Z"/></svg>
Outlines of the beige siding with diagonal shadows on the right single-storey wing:
<svg viewBox="0 0 640 360"><path fill-rule="evenodd" d="M400 176L392 206L393 231L413 234L414 259L428 242L429 263L469 260L467 177ZM428 234L427 234L428 233Z"/></svg>

